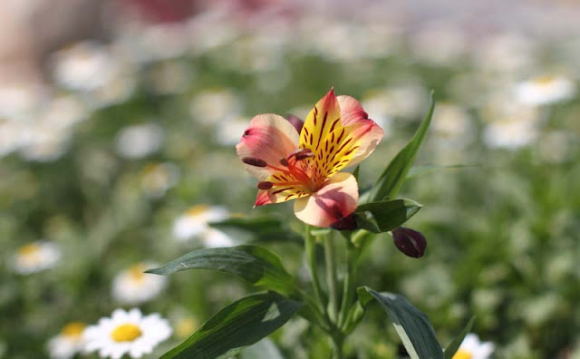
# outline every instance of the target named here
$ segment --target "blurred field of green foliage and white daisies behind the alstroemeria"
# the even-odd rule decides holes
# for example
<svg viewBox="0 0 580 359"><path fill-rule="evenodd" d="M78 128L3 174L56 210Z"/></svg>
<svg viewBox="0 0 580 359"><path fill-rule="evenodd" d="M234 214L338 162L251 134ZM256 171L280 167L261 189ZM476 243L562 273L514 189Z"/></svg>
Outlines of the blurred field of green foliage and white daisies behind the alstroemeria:
<svg viewBox="0 0 580 359"><path fill-rule="evenodd" d="M580 358L578 18L574 0L3 1L0 357L89 356L56 339L133 306L169 318L159 356L255 291L207 271L141 274L198 247L259 242L307 281L293 236L207 223L270 214L301 228L291 207L251 209L234 145L253 115L304 118L334 86L385 130L362 188L431 90L418 164L469 165L405 185L424 205L409 227L426 255L378 238L361 285L407 296L442 344L477 315L497 358ZM327 357L324 343L306 351L315 335L295 319L267 347ZM347 351L401 355L379 308Z"/></svg>

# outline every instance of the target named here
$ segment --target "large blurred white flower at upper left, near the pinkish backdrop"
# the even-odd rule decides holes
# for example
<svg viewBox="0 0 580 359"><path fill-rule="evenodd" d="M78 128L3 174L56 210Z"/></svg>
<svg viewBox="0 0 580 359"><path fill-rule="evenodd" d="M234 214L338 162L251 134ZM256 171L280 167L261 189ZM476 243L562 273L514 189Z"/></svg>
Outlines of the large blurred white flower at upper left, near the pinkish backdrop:
<svg viewBox="0 0 580 359"><path fill-rule="evenodd" d="M82 42L63 48L52 56L56 82L69 90L91 91L115 76L118 63L102 44Z"/></svg>

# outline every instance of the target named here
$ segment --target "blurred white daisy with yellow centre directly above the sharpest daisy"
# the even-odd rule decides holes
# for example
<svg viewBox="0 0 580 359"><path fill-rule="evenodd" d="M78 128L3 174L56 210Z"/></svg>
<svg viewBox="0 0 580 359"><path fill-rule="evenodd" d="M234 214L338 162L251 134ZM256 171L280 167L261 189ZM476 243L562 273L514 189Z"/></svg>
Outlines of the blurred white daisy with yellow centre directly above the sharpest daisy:
<svg viewBox="0 0 580 359"><path fill-rule="evenodd" d="M112 296L124 304L140 304L158 296L167 285L167 277L143 273L159 267L154 263L139 263L123 270L112 281Z"/></svg>

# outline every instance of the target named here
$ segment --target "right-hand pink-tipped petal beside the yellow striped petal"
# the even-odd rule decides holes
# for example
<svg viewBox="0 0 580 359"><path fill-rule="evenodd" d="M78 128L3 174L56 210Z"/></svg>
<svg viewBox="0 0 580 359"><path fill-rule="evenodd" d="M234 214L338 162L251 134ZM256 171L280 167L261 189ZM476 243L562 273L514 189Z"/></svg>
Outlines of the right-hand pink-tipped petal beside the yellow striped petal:
<svg viewBox="0 0 580 359"><path fill-rule="evenodd" d="M350 167L369 157L381 142L384 132L378 124L369 119L368 113L362 109L361 102L345 95L338 96L337 99L341 107L343 125L353 127L353 136L360 139L360 147L347 165Z"/></svg>

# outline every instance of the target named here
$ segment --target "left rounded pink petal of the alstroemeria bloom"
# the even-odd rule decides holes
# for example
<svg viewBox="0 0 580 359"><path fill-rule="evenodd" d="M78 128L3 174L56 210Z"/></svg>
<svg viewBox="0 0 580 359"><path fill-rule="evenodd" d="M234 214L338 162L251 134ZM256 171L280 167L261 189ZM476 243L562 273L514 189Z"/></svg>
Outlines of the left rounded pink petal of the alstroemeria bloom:
<svg viewBox="0 0 580 359"><path fill-rule="evenodd" d="M241 159L266 161L267 165L279 166L298 148L298 132L282 116L273 113L255 116L241 141L236 146L237 156ZM270 167L253 166L245 163L246 170L257 179L266 179L276 170Z"/></svg>

